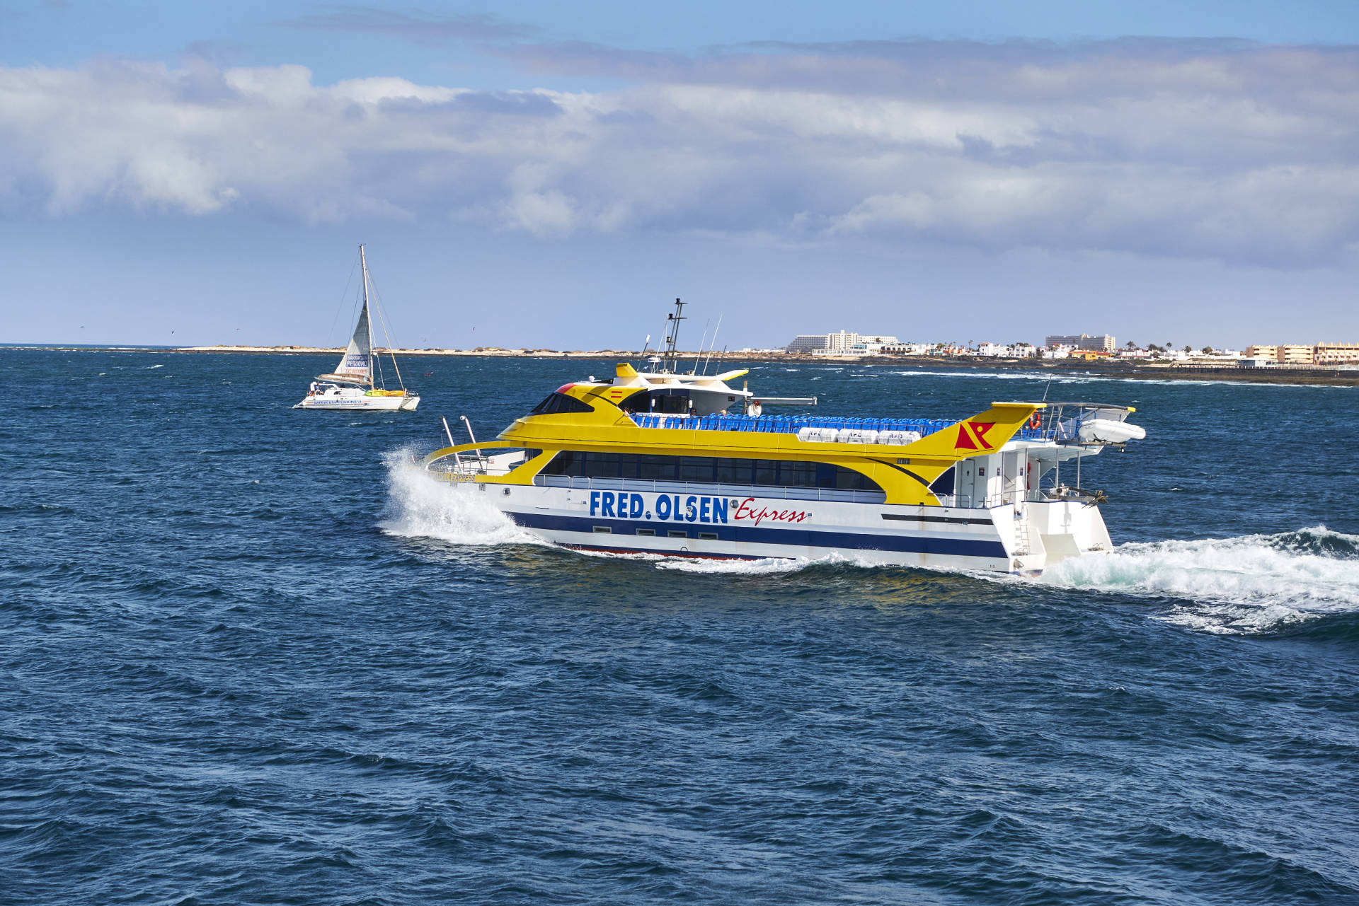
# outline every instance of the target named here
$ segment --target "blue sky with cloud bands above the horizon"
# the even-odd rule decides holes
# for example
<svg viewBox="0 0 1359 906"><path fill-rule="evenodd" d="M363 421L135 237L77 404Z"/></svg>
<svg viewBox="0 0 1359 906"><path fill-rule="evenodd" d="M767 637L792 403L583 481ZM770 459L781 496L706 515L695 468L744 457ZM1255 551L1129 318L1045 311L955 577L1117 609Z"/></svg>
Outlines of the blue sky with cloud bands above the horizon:
<svg viewBox="0 0 1359 906"><path fill-rule="evenodd" d="M1359 342L1359 4L0 0L0 342ZM696 345L699 337L682 337Z"/></svg>

